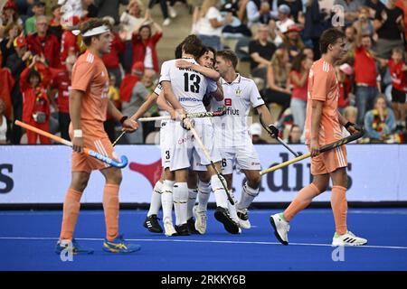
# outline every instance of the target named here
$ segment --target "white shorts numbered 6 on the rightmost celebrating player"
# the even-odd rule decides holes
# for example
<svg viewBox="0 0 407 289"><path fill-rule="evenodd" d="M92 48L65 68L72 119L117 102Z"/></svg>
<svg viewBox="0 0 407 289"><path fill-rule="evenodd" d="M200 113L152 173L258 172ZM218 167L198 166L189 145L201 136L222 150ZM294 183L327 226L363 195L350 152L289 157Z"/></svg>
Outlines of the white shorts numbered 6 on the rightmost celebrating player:
<svg viewBox="0 0 407 289"><path fill-rule="evenodd" d="M244 145L223 147L221 155L223 174L232 174L234 164L241 170L260 171L259 154L250 138L244 140Z"/></svg>

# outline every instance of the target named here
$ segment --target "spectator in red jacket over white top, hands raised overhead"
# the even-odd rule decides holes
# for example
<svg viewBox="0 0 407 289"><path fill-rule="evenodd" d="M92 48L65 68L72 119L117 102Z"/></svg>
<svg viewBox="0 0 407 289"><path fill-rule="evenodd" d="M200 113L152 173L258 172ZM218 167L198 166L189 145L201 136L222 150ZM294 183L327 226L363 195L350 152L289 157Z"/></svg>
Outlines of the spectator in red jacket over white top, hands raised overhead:
<svg viewBox="0 0 407 289"><path fill-rule="evenodd" d="M145 68L159 72L158 58L156 55L156 42L163 36L163 30L148 15L145 22L133 33L133 63L141 61ZM156 33L152 33L152 24Z"/></svg>

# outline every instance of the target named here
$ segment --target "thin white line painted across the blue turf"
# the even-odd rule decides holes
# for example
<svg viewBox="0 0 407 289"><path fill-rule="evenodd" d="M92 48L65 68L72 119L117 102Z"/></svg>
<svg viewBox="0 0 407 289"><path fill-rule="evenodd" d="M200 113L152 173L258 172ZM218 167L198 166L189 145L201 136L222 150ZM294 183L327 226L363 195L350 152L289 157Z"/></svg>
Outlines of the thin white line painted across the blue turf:
<svg viewBox="0 0 407 289"><path fill-rule="evenodd" d="M80 241L103 241L103 238L76 238ZM0 237L0 240L58 240L51 237ZM260 242L260 241L225 241L225 240L191 240L191 239L164 239L164 238L128 238L127 241L136 242L183 242L183 243L214 243L214 244L252 244L252 245L278 245L278 242ZM310 246L310 247L333 247L331 244L313 244L313 243L289 243L289 246ZM381 248L381 249L402 249L407 250L407 247L402 246L346 246L347 247L365 247L365 248Z"/></svg>

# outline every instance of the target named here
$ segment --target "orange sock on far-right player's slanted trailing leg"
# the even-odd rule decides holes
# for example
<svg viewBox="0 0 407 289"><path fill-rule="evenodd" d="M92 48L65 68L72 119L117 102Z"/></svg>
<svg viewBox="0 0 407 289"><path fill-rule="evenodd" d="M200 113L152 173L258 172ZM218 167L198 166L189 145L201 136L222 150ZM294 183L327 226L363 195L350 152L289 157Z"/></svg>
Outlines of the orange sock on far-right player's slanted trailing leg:
<svg viewBox="0 0 407 289"><path fill-rule="evenodd" d="M284 210L284 219L288 222L298 214L299 211L304 210L311 203L312 199L317 197L320 193L317 186L312 182L307 187L298 191L298 195L291 201L289 208Z"/></svg>

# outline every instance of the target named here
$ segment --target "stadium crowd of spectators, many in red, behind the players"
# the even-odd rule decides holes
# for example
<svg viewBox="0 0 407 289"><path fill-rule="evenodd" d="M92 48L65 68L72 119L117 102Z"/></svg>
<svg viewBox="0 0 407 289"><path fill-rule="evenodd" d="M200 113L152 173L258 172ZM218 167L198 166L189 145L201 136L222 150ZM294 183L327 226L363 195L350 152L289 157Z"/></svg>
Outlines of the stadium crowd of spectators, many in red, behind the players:
<svg viewBox="0 0 407 289"><path fill-rule="evenodd" d="M347 42L346 57L336 67L340 111L364 126L361 142L407 142L407 0L181 2L192 14L192 33L205 45L232 48L240 61L250 62L250 77L267 105L278 107L272 113L289 143L301 143L308 71L320 57L321 33L332 26L345 32ZM161 24L150 13L156 4ZM30 132L22 141L15 119L70 137L71 71L85 49L73 29L78 23L99 17L115 27L111 51L103 57L109 98L131 116L156 87L161 65L156 43L179 5L175 0L8 0L0 8L0 144L36 144L37 135ZM155 106L147 117L159 114ZM108 117L105 129L112 141L117 127ZM150 143L150 134L156 134L154 123L143 123L126 143ZM253 143L266 143L259 124L251 135ZM40 137L40 142L50 140Z"/></svg>

